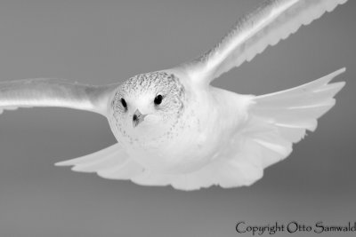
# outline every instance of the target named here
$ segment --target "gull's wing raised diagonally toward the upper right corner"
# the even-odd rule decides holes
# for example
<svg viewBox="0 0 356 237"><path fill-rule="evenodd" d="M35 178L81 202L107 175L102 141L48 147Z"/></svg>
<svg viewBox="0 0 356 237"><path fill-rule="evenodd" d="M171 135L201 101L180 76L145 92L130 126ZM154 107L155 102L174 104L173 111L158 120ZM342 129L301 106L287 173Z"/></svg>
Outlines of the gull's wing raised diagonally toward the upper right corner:
<svg viewBox="0 0 356 237"><path fill-rule="evenodd" d="M286 39L302 25L308 25L346 1L267 0L254 12L239 19L212 50L178 68L196 83L210 83L232 67L250 61L268 45Z"/></svg>

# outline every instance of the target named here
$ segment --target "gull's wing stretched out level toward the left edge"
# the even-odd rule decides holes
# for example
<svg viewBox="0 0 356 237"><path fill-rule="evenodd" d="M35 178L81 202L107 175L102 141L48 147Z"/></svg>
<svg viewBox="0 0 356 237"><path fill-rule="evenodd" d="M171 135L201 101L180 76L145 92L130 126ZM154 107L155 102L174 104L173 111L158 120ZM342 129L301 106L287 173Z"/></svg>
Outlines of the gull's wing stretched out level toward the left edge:
<svg viewBox="0 0 356 237"><path fill-rule="evenodd" d="M94 86L62 79L25 79L0 83L0 114L18 107L69 107L106 116L115 85Z"/></svg>

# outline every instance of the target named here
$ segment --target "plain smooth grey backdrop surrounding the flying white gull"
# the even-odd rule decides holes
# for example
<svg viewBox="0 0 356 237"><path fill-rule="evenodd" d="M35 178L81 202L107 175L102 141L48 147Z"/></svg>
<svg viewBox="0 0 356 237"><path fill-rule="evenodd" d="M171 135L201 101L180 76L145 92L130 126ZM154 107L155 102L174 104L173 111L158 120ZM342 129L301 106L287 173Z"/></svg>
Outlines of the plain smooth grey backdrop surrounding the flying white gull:
<svg viewBox="0 0 356 237"><path fill-rule="evenodd" d="M0 80L103 84L172 67L209 49L258 2L1 1ZM355 1L339 6L214 82L263 94L347 67L336 107L254 186L186 193L56 168L115 142L104 117L64 108L0 115L0 236L238 236L241 220L356 221L355 11Z"/></svg>

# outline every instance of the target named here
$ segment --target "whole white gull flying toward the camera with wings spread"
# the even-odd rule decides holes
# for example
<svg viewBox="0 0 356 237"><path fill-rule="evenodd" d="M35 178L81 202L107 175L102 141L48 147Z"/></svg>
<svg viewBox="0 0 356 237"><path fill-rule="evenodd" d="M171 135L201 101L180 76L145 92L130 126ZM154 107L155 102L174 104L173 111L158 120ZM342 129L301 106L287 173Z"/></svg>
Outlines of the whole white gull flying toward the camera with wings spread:
<svg viewBox="0 0 356 237"><path fill-rule="evenodd" d="M103 86L58 79L0 83L0 113L17 107L69 107L108 118L117 144L58 162L102 178L181 190L249 186L315 130L344 82L344 68L311 83L262 96L210 83L268 45L347 0L269 0L238 20L198 59Z"/></svg>

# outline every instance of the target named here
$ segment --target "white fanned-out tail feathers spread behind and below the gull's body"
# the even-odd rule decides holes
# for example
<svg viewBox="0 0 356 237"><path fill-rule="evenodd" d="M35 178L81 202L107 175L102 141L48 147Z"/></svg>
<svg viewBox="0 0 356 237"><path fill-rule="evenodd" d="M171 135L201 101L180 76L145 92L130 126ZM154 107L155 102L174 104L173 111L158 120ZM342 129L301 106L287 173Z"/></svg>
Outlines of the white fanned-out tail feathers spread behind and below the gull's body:
<svg viewBox="0 0 356 237"><path fill-rule="evenodd" d="M212 185L248 186L263 177L264 168L285 159L306 130L316 129L317 119L335 105L333 97L344 86L344 82L329 82L344 70L293 89L251 98L248 119L231 138L231 146L237 149L194 172L159 174L144 170L117 144L57 165L74 165L72 170L97 172L102 178L131 179L149 186L172 184L184 190Z"/></svg>

